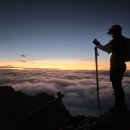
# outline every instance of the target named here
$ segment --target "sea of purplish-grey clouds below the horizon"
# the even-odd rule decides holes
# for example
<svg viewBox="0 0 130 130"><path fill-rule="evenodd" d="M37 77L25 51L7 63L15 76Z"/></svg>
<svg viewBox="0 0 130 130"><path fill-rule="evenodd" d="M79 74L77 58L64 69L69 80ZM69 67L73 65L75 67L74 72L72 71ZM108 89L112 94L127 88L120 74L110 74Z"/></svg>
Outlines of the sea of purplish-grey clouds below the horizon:
<svg viewBox="0 0 130 130"><path fill-rule="evenodd" d="M29 95L46 92L56 95L65 94L63 103L74 114L97 115L105 112L114 104L113 90L108 71L99 72L101 110L97 110L95 71L66 70L0 70L0 86L9 85L16 91ZM130 108L130 72L123 79L126 101Z"/></svg>

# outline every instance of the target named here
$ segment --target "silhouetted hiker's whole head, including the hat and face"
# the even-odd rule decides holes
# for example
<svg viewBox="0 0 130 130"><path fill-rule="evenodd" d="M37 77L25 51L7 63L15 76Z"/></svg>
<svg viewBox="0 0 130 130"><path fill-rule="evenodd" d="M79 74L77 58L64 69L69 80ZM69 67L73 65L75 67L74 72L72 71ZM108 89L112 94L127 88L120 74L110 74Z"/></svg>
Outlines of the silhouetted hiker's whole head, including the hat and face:
<svg viewBox="0 0 130 130"><path fill-rule="evenodd" d="M120 36L122 33L122 27L120 25L113 25L109 31L108 34L112 37Z"/></svg>

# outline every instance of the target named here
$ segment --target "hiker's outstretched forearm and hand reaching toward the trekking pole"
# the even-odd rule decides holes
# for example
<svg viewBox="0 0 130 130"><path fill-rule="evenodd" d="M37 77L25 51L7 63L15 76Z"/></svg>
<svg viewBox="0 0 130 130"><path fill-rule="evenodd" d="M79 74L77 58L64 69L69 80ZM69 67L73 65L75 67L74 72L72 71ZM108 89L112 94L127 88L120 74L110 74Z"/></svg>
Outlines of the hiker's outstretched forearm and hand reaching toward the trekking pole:
<svg viewBox="0 0 130 130"><path fill-rule="evenodd" d="M101 50L107 52L107 53L111 53L111 48L112 48L112 45L111 45L111 42L109 42L108 44L106 45L101 45L99 41L97 41L97 39L95 39L93 41L93 43Z"/></svg>

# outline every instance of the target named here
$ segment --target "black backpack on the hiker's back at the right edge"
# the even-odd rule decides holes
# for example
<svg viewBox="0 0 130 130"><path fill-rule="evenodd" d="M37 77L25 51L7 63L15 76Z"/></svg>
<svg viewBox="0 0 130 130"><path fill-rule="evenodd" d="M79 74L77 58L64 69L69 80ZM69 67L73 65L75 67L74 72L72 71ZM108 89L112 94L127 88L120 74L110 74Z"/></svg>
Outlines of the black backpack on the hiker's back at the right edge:
<svg viewBox="0 0 130 130"><path fill-rule="evenodd" d="M130 61L130 39L124 38L124 60L126 62Z"/></svg>

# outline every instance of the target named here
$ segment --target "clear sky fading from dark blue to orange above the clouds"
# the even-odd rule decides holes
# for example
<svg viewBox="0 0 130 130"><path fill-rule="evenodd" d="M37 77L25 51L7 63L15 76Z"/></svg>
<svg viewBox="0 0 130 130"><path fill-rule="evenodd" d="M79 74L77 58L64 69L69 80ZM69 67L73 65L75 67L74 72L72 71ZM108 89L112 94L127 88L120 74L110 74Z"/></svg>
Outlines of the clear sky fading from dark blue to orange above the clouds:
<svg viewBox="0 0 130 130"><path fill-rule="evenodd" d="M130 37L129 0L1 0L0 66L93 69L96 37L111 25ZM109 56L99 51L100 69Z"/></svg>

